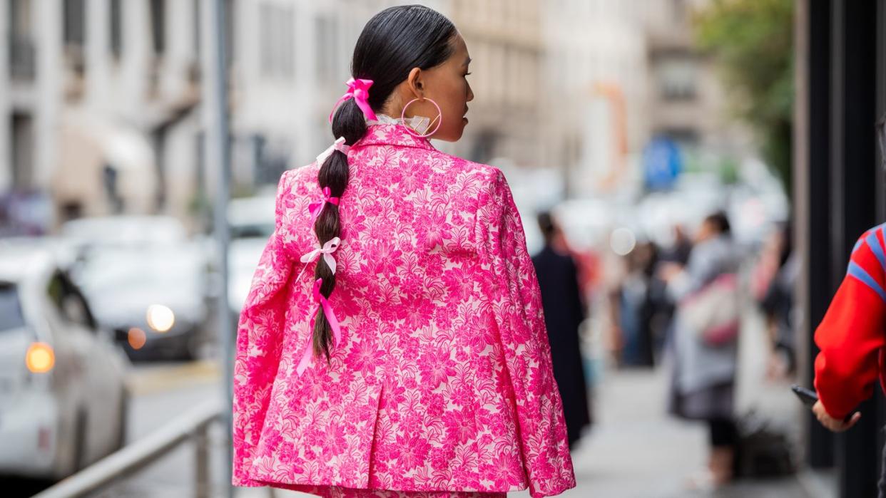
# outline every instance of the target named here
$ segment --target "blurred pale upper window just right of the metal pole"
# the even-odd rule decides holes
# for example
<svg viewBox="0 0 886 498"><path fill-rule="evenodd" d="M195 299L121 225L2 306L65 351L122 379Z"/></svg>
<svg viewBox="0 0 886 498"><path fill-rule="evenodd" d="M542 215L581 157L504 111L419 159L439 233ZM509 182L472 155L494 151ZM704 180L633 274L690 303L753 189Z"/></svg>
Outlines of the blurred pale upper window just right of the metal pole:
<svg viewBox="0 0 886 498"><path fill-rule="evenodd" d="M262 4L260 22L260 71L276 78L295 73L295 15L291 7Z"/></svg>

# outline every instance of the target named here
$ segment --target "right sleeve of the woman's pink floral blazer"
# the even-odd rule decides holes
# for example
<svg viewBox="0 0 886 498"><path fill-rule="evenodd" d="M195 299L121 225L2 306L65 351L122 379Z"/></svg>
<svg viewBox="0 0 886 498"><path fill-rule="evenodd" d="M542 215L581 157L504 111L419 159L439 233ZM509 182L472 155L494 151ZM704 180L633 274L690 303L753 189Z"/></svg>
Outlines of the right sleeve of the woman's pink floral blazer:
<svg viewBox="0 0 886 498"><path fill-rule="evenodd" d="M486 294L517 402L517 422L532 498L575 487L563 402L551 365L539 283L507 181L500 171L479 195L475 236L488 264Z"/></svg>

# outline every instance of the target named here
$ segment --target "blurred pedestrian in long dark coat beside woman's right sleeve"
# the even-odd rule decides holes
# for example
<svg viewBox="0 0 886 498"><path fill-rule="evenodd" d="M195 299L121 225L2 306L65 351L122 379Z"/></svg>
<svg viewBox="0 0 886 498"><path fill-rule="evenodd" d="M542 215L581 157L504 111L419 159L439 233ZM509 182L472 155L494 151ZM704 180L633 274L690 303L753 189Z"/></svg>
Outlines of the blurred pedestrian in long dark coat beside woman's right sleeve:
<svg viewBox="0 0 886 498"><path fill-rule="evenodd" d="M585 303L579 292L578 270L568 254L555 249L554 241L562 236L550 213L538 216L545 247L532 257L539 278L541 307L551 345L554 379L563 399L563 416L570 448L579 441L581 431L591 423L587 404L587 383L581 359L579 326L585 319Z"/></svg>

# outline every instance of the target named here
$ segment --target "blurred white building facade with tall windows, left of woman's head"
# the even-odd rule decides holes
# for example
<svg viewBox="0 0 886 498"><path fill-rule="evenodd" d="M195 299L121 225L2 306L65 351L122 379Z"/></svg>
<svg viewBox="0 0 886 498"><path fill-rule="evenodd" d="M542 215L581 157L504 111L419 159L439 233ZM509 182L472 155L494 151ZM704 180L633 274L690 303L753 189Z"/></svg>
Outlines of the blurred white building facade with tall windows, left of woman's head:
<svg viewBox="0 0 886 498"><path fill-rule="evenodd" d="M0 225L35 206L36 232L113 213L206 218L220 171L206 147L211 1L4 3ZM391 4L226 1L235 195L327 147L357 35Z"/></svg>

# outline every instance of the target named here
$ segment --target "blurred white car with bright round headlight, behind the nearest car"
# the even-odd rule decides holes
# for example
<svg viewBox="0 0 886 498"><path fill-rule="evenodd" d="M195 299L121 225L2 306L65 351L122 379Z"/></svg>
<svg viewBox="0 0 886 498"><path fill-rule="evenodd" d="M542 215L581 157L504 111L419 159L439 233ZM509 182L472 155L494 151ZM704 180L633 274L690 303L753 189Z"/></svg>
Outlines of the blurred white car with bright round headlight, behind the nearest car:
<svg viewBox="0 0 886 498"><path fill-rule="evenodd" d="M212 310L204 241L163 216L78 219L62 234L78 254L74 280L131 359L205 356Z"/></svg>

